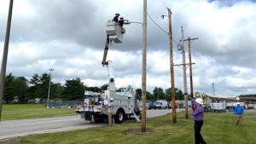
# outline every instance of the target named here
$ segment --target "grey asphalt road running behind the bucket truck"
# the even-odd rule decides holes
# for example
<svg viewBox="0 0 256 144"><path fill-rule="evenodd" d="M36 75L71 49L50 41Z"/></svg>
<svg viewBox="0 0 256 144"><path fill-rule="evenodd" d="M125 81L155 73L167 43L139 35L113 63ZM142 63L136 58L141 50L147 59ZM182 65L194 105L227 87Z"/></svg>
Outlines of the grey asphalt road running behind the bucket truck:
<svg viewBox="0 0 256 144"><path fill-rule="evenodd" d="M146 115L147 118L154 118L169 112L172 112L172 109L148 110ZM0 123L0 139L67 130L81 130L101 125L106 125L106 123L90 124L88 121L80 118L80 116L7 120Z"/></svg>

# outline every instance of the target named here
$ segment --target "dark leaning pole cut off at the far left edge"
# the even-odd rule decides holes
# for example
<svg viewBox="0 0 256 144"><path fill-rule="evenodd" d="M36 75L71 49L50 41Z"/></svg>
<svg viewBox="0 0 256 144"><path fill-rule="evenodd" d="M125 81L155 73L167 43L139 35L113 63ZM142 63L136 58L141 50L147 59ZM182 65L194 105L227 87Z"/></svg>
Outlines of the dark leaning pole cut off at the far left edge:
<svg viewBox="0 0 256 144"><path fill-rule="evenodd" d="M5 73L6 73L6 65L7 65L7 57L8 57L8 49L9 49L9 33L10 33L10 27L11 27L11 21L12 21L13 3L14 3L14 0L9 1L9 14L8 14L8 20L7 20L4 47L3 47L3 60L2 60L1 78L0 78L0 122L1 122L1 116L2 116L3 89L5 85Z"/></svg>

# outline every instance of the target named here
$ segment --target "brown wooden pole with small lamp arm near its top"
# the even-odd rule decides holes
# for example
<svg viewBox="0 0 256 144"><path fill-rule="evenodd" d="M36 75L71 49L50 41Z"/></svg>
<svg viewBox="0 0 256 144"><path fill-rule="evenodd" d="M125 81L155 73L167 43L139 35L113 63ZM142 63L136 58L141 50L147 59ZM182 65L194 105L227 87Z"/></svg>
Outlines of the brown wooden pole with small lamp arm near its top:
<svg viewBox="0 0 256 144"><path fill-rule="evenodd" d="M174 71L173 71L173 55L172 55L172 11L168 9L169 18L169 44L170 44L170 67L171 67L171 87L172 87L172 121L174 124L176 120L176 107L175 107L175 85L174 85Z"/></svg>

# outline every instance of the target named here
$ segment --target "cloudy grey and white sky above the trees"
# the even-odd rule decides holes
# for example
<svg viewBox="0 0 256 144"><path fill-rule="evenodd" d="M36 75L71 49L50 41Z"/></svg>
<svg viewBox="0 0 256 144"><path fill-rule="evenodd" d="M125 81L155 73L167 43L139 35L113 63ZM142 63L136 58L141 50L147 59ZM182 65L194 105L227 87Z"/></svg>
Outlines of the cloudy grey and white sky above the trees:
<svg viewBox="0 0 256 144"><path fill-rule="evenodd" d="M181 26L191 42L194 92L236 96L256 93L256 2L249 0L148 0L147 90L171 87L167 9L172 10L172 37L179 43ZM9 0L0 1L0 57ZM119 13L132 22L143 22L143 0L15 0L10 32L7 74L31 78L52 72L54 83L81 78L86 86L108 83L101 65L106 42L106 22ZM112 43L117 88L142 85L143 26L125 25L123 43ZM173 42L174 64L182 63ZM189 62L188 43L184 43ZM187 84L190 93L189 67ZM175 87L183 90L183 69L174 67Z"/></svg>

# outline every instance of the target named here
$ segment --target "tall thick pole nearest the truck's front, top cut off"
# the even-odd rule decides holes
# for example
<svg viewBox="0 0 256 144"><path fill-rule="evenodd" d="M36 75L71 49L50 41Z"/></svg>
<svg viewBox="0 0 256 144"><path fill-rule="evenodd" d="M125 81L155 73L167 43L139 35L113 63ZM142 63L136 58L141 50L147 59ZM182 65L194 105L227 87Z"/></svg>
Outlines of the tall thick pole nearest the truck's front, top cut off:
<svg viewBox="0 0 256 144"><path fill-rule="evenodd" d="M142 77L142 124L141 131L146 132L146 66L147 66L147 0L143 0L143 77Z"/></svg>

